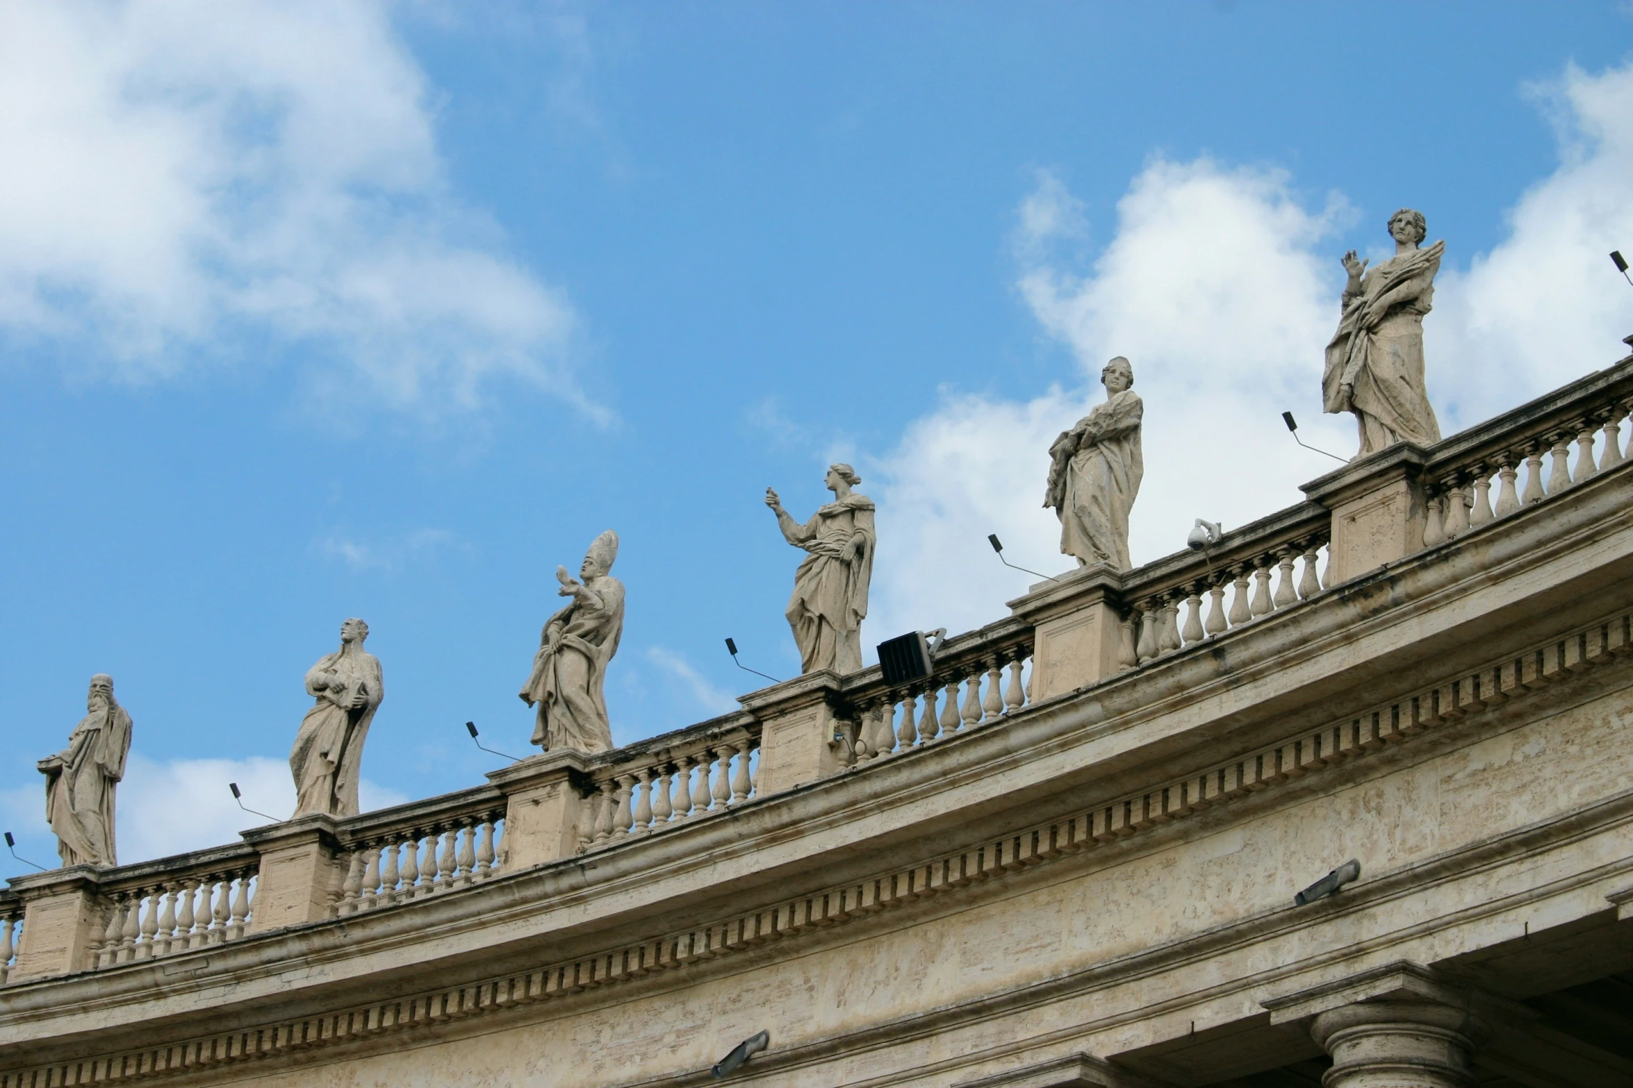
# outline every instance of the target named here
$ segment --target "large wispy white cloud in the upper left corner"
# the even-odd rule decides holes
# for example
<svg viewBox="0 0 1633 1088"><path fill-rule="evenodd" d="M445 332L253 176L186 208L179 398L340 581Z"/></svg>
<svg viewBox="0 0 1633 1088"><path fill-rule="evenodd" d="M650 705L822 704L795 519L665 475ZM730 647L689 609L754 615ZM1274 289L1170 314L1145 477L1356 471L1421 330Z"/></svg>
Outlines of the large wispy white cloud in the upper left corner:
<svg viewBox="0 0 1633 1088"><path fill-rule="evenodd" d="M137 382L269 333L336 418L496 375L604 418L570 305L447 191L429 95L384 3L5 5L0 328Z"/></svg>

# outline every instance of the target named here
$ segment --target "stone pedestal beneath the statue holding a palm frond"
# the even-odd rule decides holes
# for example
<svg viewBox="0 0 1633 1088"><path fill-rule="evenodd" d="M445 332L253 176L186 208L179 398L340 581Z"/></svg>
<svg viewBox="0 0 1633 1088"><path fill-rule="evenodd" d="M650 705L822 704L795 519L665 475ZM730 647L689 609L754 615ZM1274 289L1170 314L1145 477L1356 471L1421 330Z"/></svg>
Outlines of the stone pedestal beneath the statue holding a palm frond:
<svg viewBox="0 0 1633 1088"><path fill-rule="evenodd" d="M1401 442L1328 473L1302 491L1333 511L1328 584L1337 586L1424 546L1422 447Z"/></svg>

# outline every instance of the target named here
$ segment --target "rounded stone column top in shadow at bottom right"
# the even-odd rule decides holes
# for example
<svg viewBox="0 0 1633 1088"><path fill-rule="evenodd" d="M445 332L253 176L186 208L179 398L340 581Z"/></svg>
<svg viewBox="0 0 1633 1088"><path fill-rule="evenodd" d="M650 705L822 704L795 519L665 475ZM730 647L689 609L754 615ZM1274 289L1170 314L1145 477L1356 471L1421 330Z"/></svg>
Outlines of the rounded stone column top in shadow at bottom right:
<svg viewBox="0 0 1633 1088"><path fill-rule="evenodd" d="M1360 1002L1316 1016L1310 1036L1333 1055L1323 1088L1471 1088L1484 1028L1453 1005Z"/></svg>

